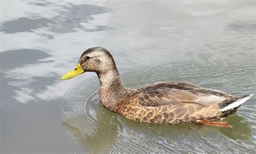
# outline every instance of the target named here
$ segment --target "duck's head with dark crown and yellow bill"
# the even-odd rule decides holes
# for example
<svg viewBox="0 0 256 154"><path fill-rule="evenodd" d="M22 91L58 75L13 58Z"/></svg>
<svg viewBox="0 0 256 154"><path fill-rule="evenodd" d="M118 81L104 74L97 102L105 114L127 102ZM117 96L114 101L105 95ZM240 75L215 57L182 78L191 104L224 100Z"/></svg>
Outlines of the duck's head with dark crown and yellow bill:
<svg viewBox="0 0 256 154"><path fill-rule="evenodd" d="M61 80L68 80L85 72L101 74L116 69L112 55L103 47L87 49L80 57L75 69L62 76Z"/></svg>

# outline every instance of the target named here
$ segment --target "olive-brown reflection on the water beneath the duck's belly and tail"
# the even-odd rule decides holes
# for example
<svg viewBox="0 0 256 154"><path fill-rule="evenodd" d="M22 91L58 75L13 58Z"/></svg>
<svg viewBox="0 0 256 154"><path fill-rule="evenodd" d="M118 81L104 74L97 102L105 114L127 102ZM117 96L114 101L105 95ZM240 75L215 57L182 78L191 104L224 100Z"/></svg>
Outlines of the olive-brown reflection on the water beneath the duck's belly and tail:
<svg viewBox="0 0 256 154"><path fill-rule="evenodd" d="M227 121L228 124L231 124L233 128L210 127L198 123L186 123L170 126L170 124L137 123L128 120L124 121L126 121L125 124L127 124L127 126L132 127L133 129L147 129L147 131L158 132L158 134L163 138L166 138L166 132L170 132L172 135L175 134L179 136L188 134L190 133L188 131L191 130L196 130L203 137L210 137L210 132L218 132L234 140L249 140L252 137L250 123L245 121L244 118L238 114L233 114L225 118L225 121Z"/></svg>

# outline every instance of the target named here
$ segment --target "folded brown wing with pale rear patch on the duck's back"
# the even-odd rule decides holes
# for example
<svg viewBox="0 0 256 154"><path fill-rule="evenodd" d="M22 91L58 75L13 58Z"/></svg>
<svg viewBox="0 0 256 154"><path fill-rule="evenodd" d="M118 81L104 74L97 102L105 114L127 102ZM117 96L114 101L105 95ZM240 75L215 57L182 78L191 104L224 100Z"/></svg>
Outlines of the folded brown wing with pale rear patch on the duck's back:
<svg viewBox="0 0 256 154"><path fill-rule="evenodd" d="M158 82L137 89L133 97L140 106L157 107L176 105L178 103L197 103L210 107L224 100L235 100L230 94L218 90L202 88L187 82Z"/></svg>

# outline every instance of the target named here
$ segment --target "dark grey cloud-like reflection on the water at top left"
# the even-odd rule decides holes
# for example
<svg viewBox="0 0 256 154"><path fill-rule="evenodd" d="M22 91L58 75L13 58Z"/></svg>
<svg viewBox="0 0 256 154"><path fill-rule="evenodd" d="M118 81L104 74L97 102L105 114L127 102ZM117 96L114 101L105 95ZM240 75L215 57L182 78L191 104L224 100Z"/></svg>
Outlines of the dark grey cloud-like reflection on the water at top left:
<svg viewBox="0 0 256 154"><path fill-rule="evenodd" d="M45 3L29 3L44 6ZM47 3L47 5L50 5ZM75 5L69 3L59 9L59 15L53 18L43 18L32 15L32 17L21 17L2 23L0 31L5 33L33 32L42 27L49 27L49 31L57 33L76 32L78 29L88 32L103 31L110 29L106 25L95 25L89 23L93 20L93 15L110 12L110 9L97 5Z"/></svg>

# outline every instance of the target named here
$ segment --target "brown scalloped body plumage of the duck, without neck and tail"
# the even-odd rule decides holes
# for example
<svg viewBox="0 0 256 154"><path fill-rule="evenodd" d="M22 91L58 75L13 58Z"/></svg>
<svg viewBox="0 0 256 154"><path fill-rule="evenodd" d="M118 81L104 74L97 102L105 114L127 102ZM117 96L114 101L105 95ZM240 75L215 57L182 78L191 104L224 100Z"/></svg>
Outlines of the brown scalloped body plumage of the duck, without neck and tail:
<svg viewBox="0 0 256 154"><path fill-rule="evenodd" d="M237 99L186 82L159 82L136 90L119 104L118 113L140 122L179 124L214 120L224 114L219 111L220 102L211 100L215 97L212 93L224 99ZM213 105L202 106L200 97L208 97L208 103Z"/></svg>

